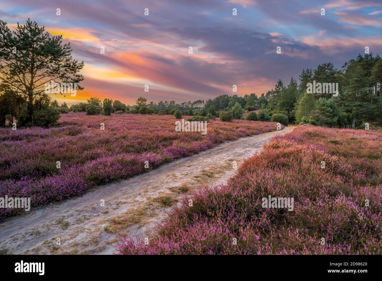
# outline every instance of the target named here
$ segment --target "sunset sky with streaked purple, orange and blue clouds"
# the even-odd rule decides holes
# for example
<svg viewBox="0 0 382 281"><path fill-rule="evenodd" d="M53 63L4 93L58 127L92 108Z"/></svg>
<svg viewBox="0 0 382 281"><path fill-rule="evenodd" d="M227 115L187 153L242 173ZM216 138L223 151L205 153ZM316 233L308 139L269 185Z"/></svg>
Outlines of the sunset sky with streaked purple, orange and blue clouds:
<svg viewBox="0 0 382 281"><path fill-rule="evenodd" d="M52 95L69 105L89 97L133 105L139 96L176 103L260 96L278 79L298 80L303 68L340 69L366 46L382 55L380 0L0 0L11 29L28 18L62 35L84 61L84 89Z"/></svg>

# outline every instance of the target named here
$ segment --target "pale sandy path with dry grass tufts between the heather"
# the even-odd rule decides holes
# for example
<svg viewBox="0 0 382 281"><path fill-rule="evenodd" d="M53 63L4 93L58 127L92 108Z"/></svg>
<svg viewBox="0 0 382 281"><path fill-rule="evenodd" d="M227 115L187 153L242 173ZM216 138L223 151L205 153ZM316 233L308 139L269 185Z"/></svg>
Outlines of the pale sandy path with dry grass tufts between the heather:
<svg viewBox="0 0 382 281"><path fill-rule="evenodd" d="M240 162L275 135L240 138L181 158L129 180L94 187L81 197L50 203L0 225L0 250L19 254L112 254L118 233L144 237L167 217L181 194L200 184L220 184ZM104 200L104 206L101 201ZM58 244L60 240L60 244Z"/></svg>

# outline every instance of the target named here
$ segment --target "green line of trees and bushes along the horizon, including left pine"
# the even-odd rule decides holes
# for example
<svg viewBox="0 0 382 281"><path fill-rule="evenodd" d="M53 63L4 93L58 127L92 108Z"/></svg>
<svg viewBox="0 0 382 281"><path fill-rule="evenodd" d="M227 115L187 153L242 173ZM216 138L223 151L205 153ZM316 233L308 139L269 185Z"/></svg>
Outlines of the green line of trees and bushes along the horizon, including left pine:
<svg viewBox="0 0 382 281"><path fill-rule="evenodd" d="M71 56L70 44L62 36L50 36L44 27L28 19L10 31L0 19L0 126L17 122L18 126L56 125L60 114L86 112L88 115L112 113L174 114L220 117L221 120L247 119L278 121L288 125L311 124L327 127L362 126L365 120L381 121L382 60L379 55L359 54L345 62L340 70L333 63L323 63L314 70L303 69L299 81L293 77L288 85L278 80L274 89L240 97L220 95L214 99L149 102L139 97L135 106L121 101L91 97L68 108L58 106L44 92L52 80L75 83L83 89L79 71L84 63ZM311 93L308 83L338 83L338 95L325 91ZM65 97L65 93L61 93ZM258 110L258 111L257 111ZM255 112L256 111L256 112ZM207 116L209 115L209 116ZM244 117L245 116L245 117Z"/></svg>

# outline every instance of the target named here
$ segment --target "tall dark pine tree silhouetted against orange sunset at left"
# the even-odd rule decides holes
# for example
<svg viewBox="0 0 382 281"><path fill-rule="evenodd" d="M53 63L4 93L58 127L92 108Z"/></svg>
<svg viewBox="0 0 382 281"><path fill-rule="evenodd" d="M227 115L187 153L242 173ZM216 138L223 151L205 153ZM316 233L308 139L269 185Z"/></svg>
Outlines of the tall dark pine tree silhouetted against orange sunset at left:
<svg viewBox="0 0 382 281"><path fill-rule="evenodd" d="M32 123L34 99L45 94L45 83L76 83L76 89L83 89L78 72L84 63L73 60L71 51L61 35L50 36L36 22L28 19L11 32L0 20L0 80L28 99L26 123Z"/></svg>

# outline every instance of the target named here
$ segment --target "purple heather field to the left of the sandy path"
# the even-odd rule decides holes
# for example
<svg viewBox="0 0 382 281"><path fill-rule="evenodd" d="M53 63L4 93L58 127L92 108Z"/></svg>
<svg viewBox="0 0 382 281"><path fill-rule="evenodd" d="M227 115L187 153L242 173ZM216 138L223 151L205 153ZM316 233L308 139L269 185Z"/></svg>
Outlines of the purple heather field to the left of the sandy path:
<svg viewBox="0 0 382 281"><path fill-rule="evenodd" d="M70 112L62 114L59 121L59 127L49 129L0 128L0 197L31 197L34 208L224 141L276 130L276 124L270 122L216 119L208 123L206 135L175 132L172 115L89 116ZM100 130L100 123L105 124L105 130ZM145 161L149 162L148 169ZM19 212L2 208L0 221Z"/></svg>

